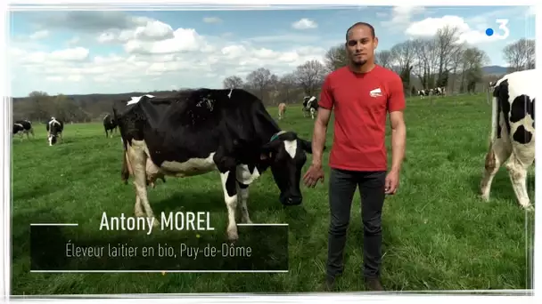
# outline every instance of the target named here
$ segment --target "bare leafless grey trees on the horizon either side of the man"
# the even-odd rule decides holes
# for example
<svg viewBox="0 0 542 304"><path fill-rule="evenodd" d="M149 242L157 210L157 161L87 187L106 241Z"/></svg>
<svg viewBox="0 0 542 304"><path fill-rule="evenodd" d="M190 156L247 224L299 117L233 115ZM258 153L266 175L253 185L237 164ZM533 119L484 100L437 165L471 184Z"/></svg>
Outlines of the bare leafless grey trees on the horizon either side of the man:
<svg viewBox="0 0 542 304"><path fill-rule="evenodd" d="M440 28L434 36L406 40L390 50L375 52L375 61L390 68L403 80L407 96L418 90L446 87L448 94L482 92L490 81L505 73L534 68L535 41L520 39L503 50L508 64L504 72L485 74L489 56L480 48L461 42L458 28ZM303 96L316 95L324 77L346 66L344 44L332 46L324 55L324 63L308 60L284 76L276 76L268 68L258 68L245 79L228 76L224 88L244 88L255 93L267 104L299 103Z"/></svg>

